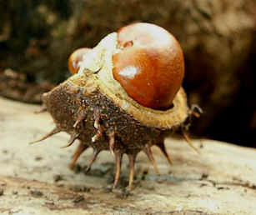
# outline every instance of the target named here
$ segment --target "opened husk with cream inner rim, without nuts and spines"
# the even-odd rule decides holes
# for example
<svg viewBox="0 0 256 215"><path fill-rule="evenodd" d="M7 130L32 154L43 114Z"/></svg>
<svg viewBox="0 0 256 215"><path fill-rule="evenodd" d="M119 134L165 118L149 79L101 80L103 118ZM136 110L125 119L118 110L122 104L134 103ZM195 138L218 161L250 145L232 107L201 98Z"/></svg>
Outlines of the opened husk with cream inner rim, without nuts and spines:
<svg viewBox="0 0 256 215"><path fill-rule="evenodd" d="M100 151L108 149L114 138L113 152L133 154L146 145L163 143L164 136L188 117L188 105L182 88L166 111L135 102L113 78L116 51L117 33L113 32L83 57L78 73L46 93L43 102L57 128L83 144ZM74 127L81 117L83 121Z"/></svg>

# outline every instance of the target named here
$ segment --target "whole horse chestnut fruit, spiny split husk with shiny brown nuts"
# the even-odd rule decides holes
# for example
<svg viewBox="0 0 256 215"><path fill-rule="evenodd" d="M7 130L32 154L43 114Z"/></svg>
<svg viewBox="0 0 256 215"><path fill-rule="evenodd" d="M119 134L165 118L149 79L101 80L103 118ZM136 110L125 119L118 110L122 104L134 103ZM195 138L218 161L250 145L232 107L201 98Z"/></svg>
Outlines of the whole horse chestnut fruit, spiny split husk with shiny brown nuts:
<svg viewBox="0 0 256 215"><path fill-rule="evenodd" d="M139 152L146 153L157 173L153 145L171 163L164 138L183 128L191 112L181 87L183 52L169 32L148 23L128 25L92 49L78 49L69 57L68 67L73 76L43 94L56 127L34 143L68 133L67 146L80 141L70 168L93 148L88 170L101 151L109 150L116 163L114 188L123 154L129 158L129 189Z"/></svg>

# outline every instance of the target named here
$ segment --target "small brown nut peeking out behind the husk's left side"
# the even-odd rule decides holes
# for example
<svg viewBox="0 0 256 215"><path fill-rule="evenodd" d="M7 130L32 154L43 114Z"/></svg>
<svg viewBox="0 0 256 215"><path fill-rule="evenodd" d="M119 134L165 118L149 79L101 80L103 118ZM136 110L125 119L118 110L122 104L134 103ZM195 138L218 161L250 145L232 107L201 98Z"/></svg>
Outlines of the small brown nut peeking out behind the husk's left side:
<svg viewBox="0 0 256 215"><path fill-rule="evenodd" d="M88 54L92 49L88 47L82 47L75 50L68 58L68 70L70 73L78 73L79 62L83 60L83 56Z"/></svg>

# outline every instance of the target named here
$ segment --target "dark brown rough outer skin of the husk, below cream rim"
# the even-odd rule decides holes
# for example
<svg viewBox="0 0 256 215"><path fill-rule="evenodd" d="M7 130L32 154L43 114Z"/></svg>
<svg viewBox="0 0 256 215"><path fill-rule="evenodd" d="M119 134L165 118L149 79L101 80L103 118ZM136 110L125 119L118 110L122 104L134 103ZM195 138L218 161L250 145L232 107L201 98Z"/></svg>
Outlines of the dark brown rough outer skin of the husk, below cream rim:
<svg viewBox="0 0 256 215"><path fill-rule="evenodd" d="M173 124L172 128L148 126L115 104L100 87L88 93L88 88L78 86L78 82L86 81L83 77L71 77L52 91L45 93L43 102L61 131L71 135L78 133L78 139L94 149L108 150L108 134L114 131L114 150L128 154L138 153L147 144L157 144L160 139L183 122ZM186 102L185 97L183 102ZM94 128L96 108L100 112L103 135L93 143L92 138L98 132L98 129ZM74 128L74 123L84 112L87 112L87 117L77 128Z"/></svg>

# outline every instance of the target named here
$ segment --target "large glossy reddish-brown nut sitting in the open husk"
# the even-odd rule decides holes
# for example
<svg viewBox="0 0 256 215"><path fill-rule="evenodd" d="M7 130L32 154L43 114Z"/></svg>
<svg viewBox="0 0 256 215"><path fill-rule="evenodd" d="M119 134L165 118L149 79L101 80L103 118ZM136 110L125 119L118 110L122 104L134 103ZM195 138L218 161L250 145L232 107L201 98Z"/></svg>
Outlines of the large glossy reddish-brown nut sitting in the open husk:
<svg viewBox="0 0 256 215"><path fill-rule="evenodd" d="M165 110L181 87L183 51L172 34L157 25L135 23L118 31L113 77L136 102Z"/></svg>

